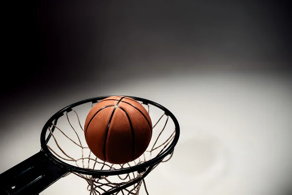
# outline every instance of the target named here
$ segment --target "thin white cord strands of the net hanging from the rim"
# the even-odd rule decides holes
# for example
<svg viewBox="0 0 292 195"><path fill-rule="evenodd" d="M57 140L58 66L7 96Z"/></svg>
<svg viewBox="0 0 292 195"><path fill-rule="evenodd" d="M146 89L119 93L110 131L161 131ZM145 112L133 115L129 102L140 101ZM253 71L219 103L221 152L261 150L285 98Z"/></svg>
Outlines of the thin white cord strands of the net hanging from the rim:
<svg viewBox="0 0 292 195"><path fill-rule="evenodd" d="M146 104L147 106L147 111L149 113L150 109L149 109L149 105ZM91 107L93 107L93 103L91 104ZM78 120L78 124L81 128L81 130L83 131L84 133L84 129L81 125L81 122L80 122L80 118L77 114L77 112L72 109L74 115L77 117L77 120ZM168 118L169 116L166 115L165 113L161 115L161 117L158 119L158 121L153 125L153 128L154 129L157 124L159 122L161 122L161 120L163 119L163 117L166 116L166 119L165 119L165 122L164 122L164 126L162 128L162 130L159 132L159 135L157 136L155 142L153 143L152 147L150 150L146 150L145 153L139 157L138 159L136 160L133 160L133 163L135 165L138 165L138 164L141 164L141 163L144 163L147 161L147 158L146 158L146 153L149 154L149 160L152 159L152 152L158 148L162 148L160 150L160 152L156 155L160 155L164 149L173 141L174 137L175 137L175 132L176 132L176 129L174 129L174 131L171 133L171 135L163 142L161 143L160 145L156 146L156 144L158 143L158 140L159 138L161 137L162 133L164 132L164 129L165 129L165 126L166 124L168 123ZM78 161L82 161L82 167L83 168L87 168L87 169L95 169L96 165L97 164L100 164L102 165L101 168L99 170L104 170L105 168L107 168L106 170L116 170L117 168L113 167L114 164L110 164L110 163L107 163L105 161L100 161L97 157L95 159L91 158L91 151L89 152L89 155L88 156L84 156L84 149L89 149L89 147L85 147L81 140L80 140L80 137L77 133L77 131L75 130L75 128L73 127L70 119L69 119L69 116L68 116L68 112L66 112L66 117L67 117L67 120L68 120L68 123L70 125L70 127L73 129L74 131L74 134L76 135L77 139L78 139L78 142L75 142L72 138L70 138L68 135L66 135L66 133L61 129L59 128L57 125L53 124L53 126L59 130L61 132L62 135L64 135L68 140L70 140L71 142L73 142L75 145L77 145L78 147L81 148L81 158L78 158L78 159L74 159L73 157L71 157L70 155L68 155L59 145L59 143L57 142L57 139L54 135L55 131L52 132L51 130L51 127L48 127L48 130L50 131L52 137L53 137L53 140L57 146L57 148L61 151L61 153L66 156L66 157L62 157L60 154L58 154L57 152L55 152L52 147L49 146L49 144L47 144L48 148L50 151L52 151L52 153L54 153L58 158L62 159L62 160L66 160L66 161L74 161L76 166L77 167L80 167L79 164L78 164ZM171 152L171 154L169 155L169 157L166 159L166 160L162 160L161 162L159 162L158 164L156 164L150 171L152 171L153 169L155 169L160 163L162 162L166 162L168 160L171 159L171 157L173 156L173 151ZM88 160L87 161L87 166L85 166L85 160ZM93 161L93 166L92 168L90 167L90 163L91 161ZM126 164L119 164L119 169L123 169L123 168L126 168L126 167L131 167L131 165L129 163L126 163ZM92 176L90 175L84 175L84 174L79 174L79 173L75 173L75 172L72 172L74 175L78 176L78 177L81 177L83 179L85 179L88 183L88 186L87 186L87 190L90 191L90 195L102 195L100 192L103 192L103 193L106 193L106 192L109 192L110 190L112 189L115 189L115 188L118 188L120 186L123 186L131 181L134 181L140 177L143 176L143 174L145 173L146 171L142 172L142 173L138 173L138 172L132 172L132 173L128 173L126 174L125 177L122 177L120 175L117 175L117 177L119 178L120 182L111 182L110 181L110 178L108 176L102 176L100 178L93 178ZM132 176L131 176L132 175ZM148 191L146 189L146 182L145 182L145 179L143 178L141 181L137 182L136 184L134 184L131 189L122 189L120 190L119 192L115 193L115 195L118 195L118 194L122 194L122 195L139 195L139 192L140 192L140 188L141 186L144 186L144 189L146 191L146 194L148 194ZM105 189L105 188L109 188L109 189ZM126 193L126 194L125 194Z"/></svg>

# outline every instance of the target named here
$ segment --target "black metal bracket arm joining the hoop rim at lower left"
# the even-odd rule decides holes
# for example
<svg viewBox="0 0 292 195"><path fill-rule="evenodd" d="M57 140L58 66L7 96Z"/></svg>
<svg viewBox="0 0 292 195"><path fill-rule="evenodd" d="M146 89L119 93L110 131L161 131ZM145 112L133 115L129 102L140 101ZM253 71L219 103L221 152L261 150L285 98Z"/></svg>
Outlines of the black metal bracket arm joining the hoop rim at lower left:
<svg viewBox="0 0 292 195"><path fill-rule="evenodd" d="M68 171L51 163L43 151L0 174L1 195L38 195Z"/></svg>

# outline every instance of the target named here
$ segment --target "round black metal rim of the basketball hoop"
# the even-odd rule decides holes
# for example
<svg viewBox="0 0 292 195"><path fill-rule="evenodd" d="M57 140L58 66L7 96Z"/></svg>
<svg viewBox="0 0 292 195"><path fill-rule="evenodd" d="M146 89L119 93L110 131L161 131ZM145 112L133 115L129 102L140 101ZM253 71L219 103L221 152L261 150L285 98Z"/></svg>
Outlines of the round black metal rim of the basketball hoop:
<svg viewBox="0 0 292 195"><path fill-rule="evenodd" d="M135 172L135 171L145 171L149 166L151 165L155 165L159 162L161 162L164 157L166 157L167 155L169 155L173 150L175 145L177 144L178 140L179 140L179 136L180 136L180 126L178 123L178 120L176 119L176 117L164 106L157 104L156 102L144 99L144 98L139 98L139 97L134 97L134 96L127 96L127 95L123 95L125 97L129 97L129 98L133 98L137 101L141 101L145 104L150 104L153 106L156 106L160 109L162 109L166 115L168 115L174 122L175 124L175 137L173 139L173 141L170 143L170 145L157 157L148 160L142 164L139 165L135 165L132 167L127 167L127 168L123 168L123 169L117 169L117 170L91 170L91 169L85 169L85 168L81 168L81 167L77 167L77 166L73 166L71 164L68 164L66 162L63 162L62 160L58 159L55 157L54 154L51 153L51 151L49 150L48 146L47 146L47 142L46 142L46 132L48 130L48 127L51 126L51 124L57 120L58 118L60 118L63 113L65 112L69 112L71 111L71 108L75 107L75 106L79 106L85 103L96 103L96 101L98 100L102 100L104 98L108 98L111 96L117 96L117 95L109 95L109 96L99 96L99 97L94 97L94 98L89 98L89 99L85 99L76 103L73 103L69 106L64 107L63 109L59 110L58 112L56 112L48 121L47 123L44 125L42 131L41 131L41 135L40 135L40 144L41 144L41 148L42 150L45 152L46 156L48 157L48 159L53 162L55 165L63 168L63 169L67 169L69 172L76 172L76 173L80 173L80 174L86 174L86 175L92 175L92 176L112 176L112 175L120 175L120 174L127 174L127 173L131 173L131 172Z"/></svg>

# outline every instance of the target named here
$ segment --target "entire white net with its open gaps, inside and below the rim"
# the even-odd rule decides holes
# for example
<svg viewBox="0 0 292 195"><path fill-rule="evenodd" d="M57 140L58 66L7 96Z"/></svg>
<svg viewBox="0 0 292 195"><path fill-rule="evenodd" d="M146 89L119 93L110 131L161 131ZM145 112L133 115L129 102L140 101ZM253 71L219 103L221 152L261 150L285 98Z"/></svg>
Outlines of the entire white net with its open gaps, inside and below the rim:
<svg viewBox="0 0 292 195"><path fill-rule="evenodd" d="M173 121L163 110L153 105L140 103L145 106L151 117L152 124L154 125L148 148L144 154L136 160L125 164L111 164L99 160L91 153L85 141L83 126L87 114L96 103L76 106L72 111L65 112L64 115L58 119L57 124L52 124L48 127L47 136L51 136L51 139L47 143L47 146L58 159L68 164L91 170L120 170L151 160L160 155L169 146L175 137L176 130ZM173 152L166 156L160 163L170 160L172 155ZM91 175L75 172L72 172L72 174L83 178L87 182L87 190L90 195L109 194L112 190L119 189L119 187L134 182L135 180L138 180L138 182L134 182L133 185L127 188L117 190L114 195L139 195L142 186L146 194L149 195L143 175L146 174L146 171L152 171L160 163L152 167L151 170L146 169L142 172L135 171L123 175L94 178Z"/></svg>

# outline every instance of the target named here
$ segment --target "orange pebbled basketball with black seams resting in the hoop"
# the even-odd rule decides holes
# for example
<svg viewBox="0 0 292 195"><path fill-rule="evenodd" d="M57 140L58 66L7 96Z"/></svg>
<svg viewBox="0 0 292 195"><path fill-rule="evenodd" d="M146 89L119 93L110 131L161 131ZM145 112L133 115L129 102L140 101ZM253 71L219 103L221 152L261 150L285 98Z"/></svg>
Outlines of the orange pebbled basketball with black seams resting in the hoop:
<svg viewBox="0 0 292 195"><path fill-rule="evenodd" d="M84 135L97 158L123 164L145 152L152 136L152 122L145 107L136 100L111 96L92 107Z"/></svg>

